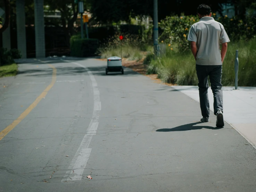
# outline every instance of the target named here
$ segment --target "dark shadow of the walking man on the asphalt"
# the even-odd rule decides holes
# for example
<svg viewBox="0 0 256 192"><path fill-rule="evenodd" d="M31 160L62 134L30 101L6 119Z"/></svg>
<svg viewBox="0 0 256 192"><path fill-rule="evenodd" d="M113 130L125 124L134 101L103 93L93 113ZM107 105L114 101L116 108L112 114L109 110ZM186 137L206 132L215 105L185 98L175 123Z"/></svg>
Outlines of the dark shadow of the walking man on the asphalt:
<svg viewBox="0 0 256 192"><path fill-rule="evenodd" d="M164 129L157 129L157 132L170 132L170 131L189 131L189 130L198 130L198 129L213 129L213 130L217 130L217 129L221 129L219 127L212 127L212 126L193 126L193 125L197 125L197 124L201 124L202 122L195 122L195 123L189 123L186 125L180 125L174 128L164 128Z"/></svg>

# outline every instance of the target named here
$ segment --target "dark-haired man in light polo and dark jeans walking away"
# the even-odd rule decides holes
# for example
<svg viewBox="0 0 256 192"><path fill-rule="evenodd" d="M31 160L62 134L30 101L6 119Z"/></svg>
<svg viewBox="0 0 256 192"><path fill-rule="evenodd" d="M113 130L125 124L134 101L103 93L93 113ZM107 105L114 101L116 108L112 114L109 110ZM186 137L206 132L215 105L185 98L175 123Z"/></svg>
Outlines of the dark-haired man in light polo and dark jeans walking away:
<svg viewBox="0 0 256 192"><path fill-rule="evenodd" d="M201 122L209 121L209 76L214 97L214 114L217 116L216 126L223 127L222 63L230 40L223 25L211 17L212 13L209 6L199 5L197 14L200 21L191 26L188 41L191 42L191 51L196 60L200 108L202 112ZM220 44L222 44L221 51Z"/></svg>

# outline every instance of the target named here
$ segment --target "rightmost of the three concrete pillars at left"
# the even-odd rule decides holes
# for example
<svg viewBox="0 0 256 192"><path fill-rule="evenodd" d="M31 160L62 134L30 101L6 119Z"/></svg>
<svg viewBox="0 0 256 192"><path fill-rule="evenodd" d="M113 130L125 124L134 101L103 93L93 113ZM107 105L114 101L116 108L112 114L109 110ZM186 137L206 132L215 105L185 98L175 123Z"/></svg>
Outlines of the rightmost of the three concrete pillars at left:
<svg viewBox="0 0 256 192"><path fill-rule="evenodd" d="M45 57L45 41L44 41L44 1L34 0L35 4L35 43L36 58Z"/></svg>

